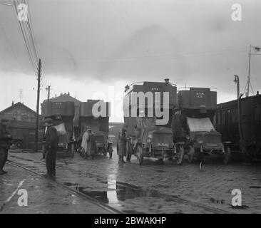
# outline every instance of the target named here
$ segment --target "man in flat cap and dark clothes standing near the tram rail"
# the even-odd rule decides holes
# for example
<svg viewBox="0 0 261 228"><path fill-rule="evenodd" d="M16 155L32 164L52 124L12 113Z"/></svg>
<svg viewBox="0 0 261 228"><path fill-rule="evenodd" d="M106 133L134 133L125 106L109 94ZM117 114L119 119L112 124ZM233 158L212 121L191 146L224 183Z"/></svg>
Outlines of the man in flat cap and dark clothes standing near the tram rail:
<svg viewBox="0 0 261 228"><path fill-rule="evenodd" d="M56 152L58 149L58 133L56 128L53 126L53 120L47 118L44 120L44 125L46 127L45 135L45 151L46 151L46 170L47 173L45 177L55 177L56 176Z"/></svg>

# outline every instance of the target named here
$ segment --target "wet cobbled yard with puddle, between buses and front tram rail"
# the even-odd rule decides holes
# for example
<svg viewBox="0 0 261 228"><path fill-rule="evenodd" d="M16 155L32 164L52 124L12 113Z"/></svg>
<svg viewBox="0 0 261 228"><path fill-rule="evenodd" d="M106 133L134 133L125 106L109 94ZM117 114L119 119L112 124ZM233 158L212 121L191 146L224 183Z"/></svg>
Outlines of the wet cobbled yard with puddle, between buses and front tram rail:
<svg viewBox="0 0 261 228"><path fill-rule="evenodd" d="M12 152L9 153L9 160L26 165L36 172L45 172L41 153ZM222 165L220 161L207 161L200 170L197 164L184 162L179 166L175 161L160 162L145 158L140 166L134 156L131 163L118 165L115 152L112 159L96 155L94 160L83 160L76 153L73 158L58 158L56 176L58 182L123 212L261 212L260 165ZM233 189L242 191L241 208L235 209L231 206ZM58 202L62 198L56 195L49 197ZM61 202L65 201L61 199ZM41 204L41 200L38 202ZM78 211L77 207L76 212Z"/></svg>

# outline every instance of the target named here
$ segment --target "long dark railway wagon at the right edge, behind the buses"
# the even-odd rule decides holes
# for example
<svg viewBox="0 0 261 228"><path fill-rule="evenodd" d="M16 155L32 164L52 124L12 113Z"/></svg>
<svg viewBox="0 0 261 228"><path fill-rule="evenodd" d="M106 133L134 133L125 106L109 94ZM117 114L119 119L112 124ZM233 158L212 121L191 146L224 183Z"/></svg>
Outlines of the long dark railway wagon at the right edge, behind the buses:
<svg viewBox="0 0 261 228"><path fill-rule="evenodd" d="M248 161L260 159L261 95L218 104L215 127L232 152L241 152Z"/></svg>

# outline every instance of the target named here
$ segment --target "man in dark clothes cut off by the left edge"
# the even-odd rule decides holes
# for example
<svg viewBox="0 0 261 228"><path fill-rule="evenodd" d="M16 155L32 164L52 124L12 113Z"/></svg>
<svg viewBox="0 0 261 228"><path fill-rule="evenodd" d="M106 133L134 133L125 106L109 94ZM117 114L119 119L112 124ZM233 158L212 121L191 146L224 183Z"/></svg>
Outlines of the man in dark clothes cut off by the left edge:
<svg viewBox="0 0 261 228"><path fill-rule="evenodd" d="M0 175L4 175L6 171L3 170L6 165L8 157L9 141L11 135L6 131L6 125L9 123L7 119L1 119L0 123Z"/></svg>

